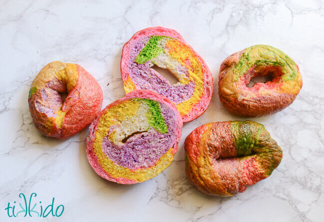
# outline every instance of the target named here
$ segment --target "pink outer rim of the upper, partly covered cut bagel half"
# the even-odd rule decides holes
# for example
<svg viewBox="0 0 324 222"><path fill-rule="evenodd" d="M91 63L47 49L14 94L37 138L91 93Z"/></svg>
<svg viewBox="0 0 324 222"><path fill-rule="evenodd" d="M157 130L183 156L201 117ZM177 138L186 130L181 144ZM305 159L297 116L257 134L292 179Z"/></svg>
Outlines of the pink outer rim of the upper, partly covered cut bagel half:
<svg viewBox="0 0 324 222"><path fill-rule="evenodd" d="M121 71L121 76L123 78L123 81L125 82L127 78L130 76L127 64L129 63L128 58L129 58L132 44L135 43L138 38L144 36L151 36L151 35L164 35L164 36L170 36L172 38L178 39L179 41L185 43L191 49L193 54L199 59L200 63L202 64L203 67L202 71L204 73L204 95L200 99L200 102L194 104L192 109L187 114L182 116L182 121L190 122L198 118L207 110L211 102L213 90L214 90L213 76L206 62L202 59L202 57L183 39L183 37L176 30L157 26L157 27L149 27L136 32L132 36L132 38L125 43L123 47L121 60L120 60L120 71ZM140 89L140 87L136 86L136 89Z"/></svg>

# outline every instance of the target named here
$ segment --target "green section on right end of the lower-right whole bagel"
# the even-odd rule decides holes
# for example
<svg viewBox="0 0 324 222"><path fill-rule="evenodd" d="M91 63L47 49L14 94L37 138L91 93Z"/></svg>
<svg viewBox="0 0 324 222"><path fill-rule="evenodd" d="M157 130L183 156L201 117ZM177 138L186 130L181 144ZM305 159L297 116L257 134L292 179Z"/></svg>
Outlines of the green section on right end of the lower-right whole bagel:
<svg viewBox="0 0 324 222"><path fill-rule="evenodd" d="M265 127L254 121L231 121L237 156L256 156L260 168L267 176L276 169L282 159L282 149Z"/></svg>

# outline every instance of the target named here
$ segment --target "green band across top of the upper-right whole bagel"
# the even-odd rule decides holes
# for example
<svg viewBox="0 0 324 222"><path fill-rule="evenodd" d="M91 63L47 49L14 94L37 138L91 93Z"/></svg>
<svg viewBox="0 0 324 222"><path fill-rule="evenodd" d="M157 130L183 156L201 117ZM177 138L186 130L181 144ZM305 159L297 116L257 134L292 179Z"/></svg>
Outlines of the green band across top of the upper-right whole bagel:
<svg viewBox="0 0 324 222"><path fill-rule="evenodd" d="M293 80L298 75L294 60L283 51L270 45L255 45L246 48L234 67L235 80L238 81L243 73L253 66L280 66L284 75L281 80Z"/></svg>

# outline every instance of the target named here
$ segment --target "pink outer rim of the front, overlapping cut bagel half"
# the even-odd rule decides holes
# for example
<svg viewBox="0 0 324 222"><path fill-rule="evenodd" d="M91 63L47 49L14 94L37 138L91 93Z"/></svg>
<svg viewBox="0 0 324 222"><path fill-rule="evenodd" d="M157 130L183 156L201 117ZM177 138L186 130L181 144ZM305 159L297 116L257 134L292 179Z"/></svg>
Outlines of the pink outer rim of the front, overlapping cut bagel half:
<svg viewBox="0 0 324 222"><path fill-rule="evenodd" d="M175 111L176 115L178 115L177 119L179 121L176 123L175 127L180 129L180 132L182 132L182 121L181 121L181 116L180 116L180 113L179 113L177 107L174 105L174 103L172 103L165 96L159 95L159 94L157 94L157 93L155 93L155 92L153 92L151 90L145 90L145 89L134 90L134 91L126 94L125 97L122 97L122 98L116 100L115 102L110 103L108 106L106 106L106 108L101 110L101 112L96 116L96 118L94 119L94 121L91 123L91 125L89 127L89 135L88 135L87 140L86 140L87 158L88 158L88 161L89 161L90 165L94 169L94 171L100 177L102 177L102 178L104 178L106 180L112 181L112 182L119 183L119 184L136 184L138 182L136 180L132 180L132 179L128 179L128 178L115 178L115 177L109 175L107 172L105 172L105 170L99 164L96 154L94 153L93 143L94 143L94 140L95 140L95 133L96 133L96 131L98 129L98 123L100 121L100 118L107 111L107 109L121 103L122 101L129 100L129 99L132 99L132 98L152 99L152 100L158 101L160 103L170 105L170 108ZM178 143L180 142L180 139L181 139L181 133L179 135L177 135L175 145L171 148L173 154L175 154L177 152L177 150L178 150Z"/></svg>

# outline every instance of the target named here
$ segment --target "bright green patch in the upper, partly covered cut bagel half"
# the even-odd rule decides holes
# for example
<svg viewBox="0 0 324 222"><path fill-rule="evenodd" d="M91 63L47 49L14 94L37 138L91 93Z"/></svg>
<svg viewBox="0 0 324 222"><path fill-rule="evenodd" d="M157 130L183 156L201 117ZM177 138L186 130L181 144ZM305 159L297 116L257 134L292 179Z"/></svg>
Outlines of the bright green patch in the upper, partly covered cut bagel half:
<svg viewBox="0 0 324 222"><path fill-rule="evenodd" d="M166 36L160 35L150 36L150 39L146 43L145 47L137 55L135 62L138 64L142 64L147 62L148 60L151 60L152 58L159 56L163 52L163 49L159 47L158 42L159 40L165 37Z"/></svg>

